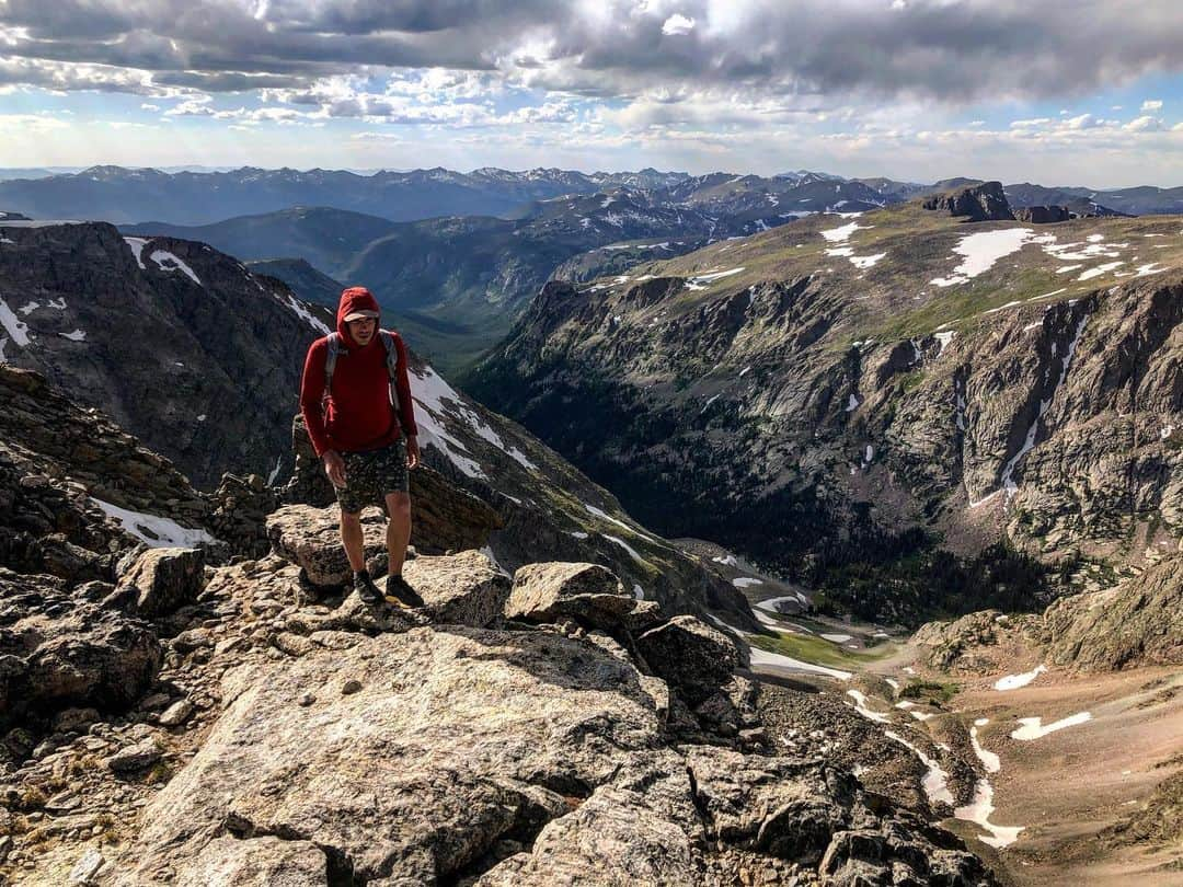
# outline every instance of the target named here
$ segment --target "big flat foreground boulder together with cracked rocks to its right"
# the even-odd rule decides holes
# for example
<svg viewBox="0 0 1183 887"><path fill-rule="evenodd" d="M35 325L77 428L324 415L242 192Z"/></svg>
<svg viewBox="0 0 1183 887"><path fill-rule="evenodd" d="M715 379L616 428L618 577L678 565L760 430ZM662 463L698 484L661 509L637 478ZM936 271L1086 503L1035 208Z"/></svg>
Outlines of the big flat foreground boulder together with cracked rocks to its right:
<svg viewBox="0 0 1183 887"><path fill-rule="evenodd" d="M434 626L332 647L227 673L101 883L196 883L214 859L296 883L724 885L751 866L993 883L823 764L666 745L653 679L588 640Z"/></svg>

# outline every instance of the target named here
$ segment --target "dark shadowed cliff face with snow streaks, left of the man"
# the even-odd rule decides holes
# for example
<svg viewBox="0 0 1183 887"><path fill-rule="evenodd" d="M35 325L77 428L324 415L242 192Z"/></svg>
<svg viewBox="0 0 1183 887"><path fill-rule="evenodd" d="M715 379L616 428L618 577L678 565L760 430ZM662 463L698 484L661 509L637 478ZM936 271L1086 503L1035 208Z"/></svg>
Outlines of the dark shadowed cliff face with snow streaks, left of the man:
<svg viewBox="0 0 1183 887"><path fill-rule="evenodd" d="M203 244L99 222L2 238L5 361L109 413L199 487L276 471L325 309Z"/></svg>

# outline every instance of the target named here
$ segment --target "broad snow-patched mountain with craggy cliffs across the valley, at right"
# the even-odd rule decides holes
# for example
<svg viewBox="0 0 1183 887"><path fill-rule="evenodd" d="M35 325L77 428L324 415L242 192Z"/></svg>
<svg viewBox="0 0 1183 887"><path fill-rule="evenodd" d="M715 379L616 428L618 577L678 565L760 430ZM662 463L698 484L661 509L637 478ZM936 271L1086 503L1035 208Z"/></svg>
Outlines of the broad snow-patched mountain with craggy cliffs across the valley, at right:
<svg viewBox="0 0 1183 887"><path fill-rule="evenodd" d="M948 208L551 283L465 386L644 523L866 616L1039 603L1042 568L1000 540L1045 561L1177 546L1178 221Z"/></svg>

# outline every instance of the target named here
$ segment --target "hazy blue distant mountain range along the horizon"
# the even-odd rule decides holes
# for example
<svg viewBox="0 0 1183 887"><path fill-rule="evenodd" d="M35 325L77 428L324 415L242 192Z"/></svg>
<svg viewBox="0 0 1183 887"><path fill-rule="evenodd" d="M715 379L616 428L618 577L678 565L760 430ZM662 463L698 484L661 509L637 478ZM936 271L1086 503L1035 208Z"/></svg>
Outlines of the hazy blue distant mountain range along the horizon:
<svg viewBox="0 0 1183 887"><path fill-rule="evenodd" d="M819 211L848 201L849 211L943 190L971 180L931 183L891 179L842 179L826 173L791 173L771 177L712 173L580 173L562 169L510 171L496 168L458 173L442 168L379 170L366 175L327 169L260 169L162 171L151 168L91 167L77 173L0 180L0 206L38 219L103 220L116 225L159 220L174 225L208 225L238 215L257 215L293 206L331 206L413 221L441 215L513 218L537 200L595 194L615 188L668 190L671 202L710 209L736 200L749 206L778 206L780 212ZM976 180L972 180L976 181ZM1130 214L1179 212L1181 188L1037 188L1007 186L1016 207L1085 200ZM1030 201L1030 202L1027 202Z"/></svg>

